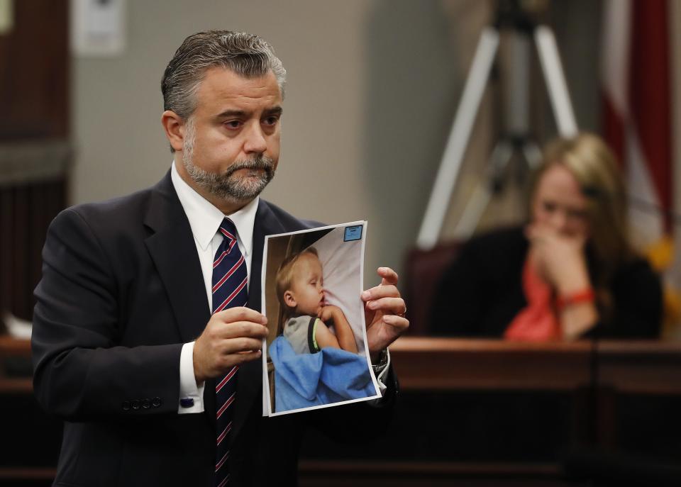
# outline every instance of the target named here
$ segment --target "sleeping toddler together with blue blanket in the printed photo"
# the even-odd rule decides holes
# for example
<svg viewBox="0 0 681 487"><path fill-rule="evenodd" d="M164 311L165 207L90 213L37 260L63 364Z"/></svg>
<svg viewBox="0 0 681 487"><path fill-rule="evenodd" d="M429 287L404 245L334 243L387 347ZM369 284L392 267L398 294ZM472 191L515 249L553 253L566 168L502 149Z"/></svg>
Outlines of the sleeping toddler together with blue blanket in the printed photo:
<svg viewBox="0 0 681 487"><path fill-rule="evenodd" d="M326 303L316 249L284 259L274 284L282 321L268 348L274 366L272 411L376 396L367 358L358 353L345 313Z"/></svg>

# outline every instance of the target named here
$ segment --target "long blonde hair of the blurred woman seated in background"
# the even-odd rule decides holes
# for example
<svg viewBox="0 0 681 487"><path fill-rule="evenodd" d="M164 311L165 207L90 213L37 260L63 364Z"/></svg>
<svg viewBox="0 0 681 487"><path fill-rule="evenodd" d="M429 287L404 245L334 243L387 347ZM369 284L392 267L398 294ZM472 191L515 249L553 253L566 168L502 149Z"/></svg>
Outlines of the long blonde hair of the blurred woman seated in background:
<svg viewBox="0 0 681 487"><path fill-rule="evenodd" d="M570 171L587 198L589 274L595 288L606 289L615 270L633 257L626 218L626 186L616 158L606 143L592 133L555 139L546 145L543 164L534 174L531 200L538 181L556 164Z"/></svg>

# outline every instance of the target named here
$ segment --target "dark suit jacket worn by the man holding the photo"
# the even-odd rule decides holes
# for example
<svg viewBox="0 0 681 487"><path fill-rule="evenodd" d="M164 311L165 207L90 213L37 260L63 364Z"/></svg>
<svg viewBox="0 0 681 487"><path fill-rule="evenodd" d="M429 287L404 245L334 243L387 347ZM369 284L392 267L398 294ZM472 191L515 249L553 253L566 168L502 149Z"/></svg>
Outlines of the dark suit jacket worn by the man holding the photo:
<svg viewBox="0 0 681 487"><path fill-rule="evenodd" d="M311 225L260 201L248 306L260 310L265 235ZM168 173L150 189L69 208L43 250L33 317L35 394L65 420L55 485L211 486L214 383L202 414L177 414L179 355L210 318L189 220ZM260 361L240 367L229 468L232 486L294 485L308 425L338 439L376 435L383 407L339 406L262 418ZM352 426L348 428L348 425Z"/></svg>

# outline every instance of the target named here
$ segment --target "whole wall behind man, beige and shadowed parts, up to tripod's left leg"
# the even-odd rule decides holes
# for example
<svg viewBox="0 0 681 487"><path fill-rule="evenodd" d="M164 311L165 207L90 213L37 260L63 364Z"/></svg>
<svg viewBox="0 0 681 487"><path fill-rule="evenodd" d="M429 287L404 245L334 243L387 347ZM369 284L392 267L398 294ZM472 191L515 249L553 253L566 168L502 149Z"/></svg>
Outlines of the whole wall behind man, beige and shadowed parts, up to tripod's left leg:
<svg viewBox="0 0 681 487"><path fill-rule="evenodd" d="M288 71L282 159L265 198L301 218L366 218L367 274L400 269L466 69L444 11L411 0L128 1L126 52L74 60L72 203L160 179L171 161L160 126L167 61L197 30L245 30Z"/></svg>

